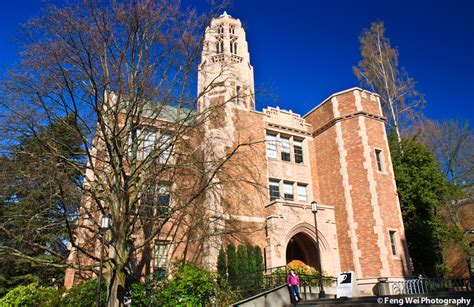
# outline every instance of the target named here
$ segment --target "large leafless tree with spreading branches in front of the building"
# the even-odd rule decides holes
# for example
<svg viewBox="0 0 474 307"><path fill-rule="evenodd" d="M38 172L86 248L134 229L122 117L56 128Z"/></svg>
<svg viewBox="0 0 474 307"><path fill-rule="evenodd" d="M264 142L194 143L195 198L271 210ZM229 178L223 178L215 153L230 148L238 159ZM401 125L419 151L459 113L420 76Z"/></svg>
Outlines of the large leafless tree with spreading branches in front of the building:
<svg viewBox="0 0 474 307"><path fill-rule="evenodd" d="M97 272L100 218L110 214L104 261L109 306L120 304L127 276L146 272L155 240L171 236L186 245L184 255L192 254L186 250L231 231L216 226L229 220L230 204L209 208L210 200L225 190L235 206L248 201L245 188L261 187L256 159L262 140L237 135L237 143L215 154L219 140L205 133L233 98L195 108L222 84L210 82L197 96L192 89L209 16L175 1L49 6L26 25L21 65L2 82L5 137L35 138L54 122L80 135L74 159L53 139L42 143L58 165L83 174L81 181L68 179L82 193L81 206L63 209L72 254L68 262L55 254L60 261L50 264ZM73 120L64 122L66 116ZM26 257L11 246L0 249Z"/></svg>

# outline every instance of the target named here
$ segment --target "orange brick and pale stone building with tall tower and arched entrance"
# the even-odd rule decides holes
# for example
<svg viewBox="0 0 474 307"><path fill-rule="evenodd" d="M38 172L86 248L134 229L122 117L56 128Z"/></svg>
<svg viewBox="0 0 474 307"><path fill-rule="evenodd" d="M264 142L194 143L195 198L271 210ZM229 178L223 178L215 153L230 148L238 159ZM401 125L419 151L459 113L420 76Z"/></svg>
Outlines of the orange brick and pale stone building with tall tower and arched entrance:
<svg viewBox="0 0 474 307"><path fill-rule="evenodd" d="M224 155L242 140L255 142L241 164L265 187L262 192L242 186L245 201L238 201L225 185L218 196L207 197L210 210L247 232L240 238L206 240L201 262L215 267L222 244L237 240L259 245L267 268L294 259L317 267L318 236L323 271L332 276L354 271L361 291L371 293L379 277L410 276L377 94L351 88L330 95L303 116L278 107L255 110L245 31L226 13L206 29L198 93L204 93L198 112L222 107L205 126L204 134L215 142L204 155ZM319 204L317 234L312 201ZM155 258L180 257L178 245L155 250ZM155 259L155 267L158 263ZM66 283L74 283L74 270L68 274Z"/></svg>

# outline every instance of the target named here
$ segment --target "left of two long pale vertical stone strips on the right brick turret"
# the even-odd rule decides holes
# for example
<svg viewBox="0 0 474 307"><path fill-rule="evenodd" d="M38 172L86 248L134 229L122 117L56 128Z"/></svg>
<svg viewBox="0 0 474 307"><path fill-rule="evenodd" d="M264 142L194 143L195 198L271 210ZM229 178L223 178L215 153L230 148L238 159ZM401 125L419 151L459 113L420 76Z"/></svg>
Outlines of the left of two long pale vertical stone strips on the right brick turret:
<svg viewBox="0 0 474 307"><path fill-rule="evenodd" d="M332 102L332 107L333 107L333 113L335 117L339 117L339 103L337 101L336 97L333 97L331 99ZM347 171L347 161L346 161L346 156L347 156L347 151L344 148L344 138L342 135L342 123L341 121L337 121L335 123L336 125L336 144L337 144L337 149L339 152L339 163L340 163L340 170L339 173L341 174L342 177L342 185L344 189L344 204L346 207L346 213L347 213L347 226L349 228L349 233L347 234L349 238L351 238L351 252L352 252L352 262L354 263L354 270L357 276L362 277L362 268L360 265L359 258L361 257L361 250L359 249L357 243L357 223L355 222L354 219L354 210L352 208L352 197L351 197L351 190L352 186L349 184L349 173Z"/></svg>

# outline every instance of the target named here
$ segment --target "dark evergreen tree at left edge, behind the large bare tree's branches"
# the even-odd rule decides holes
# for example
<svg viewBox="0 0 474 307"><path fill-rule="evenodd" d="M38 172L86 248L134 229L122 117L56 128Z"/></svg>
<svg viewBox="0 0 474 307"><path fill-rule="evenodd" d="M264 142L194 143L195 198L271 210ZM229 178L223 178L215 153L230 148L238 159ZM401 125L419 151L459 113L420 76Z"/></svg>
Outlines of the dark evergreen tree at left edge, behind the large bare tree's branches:
<svg viewBox="0 0 474 307"><path fill-rule="evenodd" d="M73 116L57 118L17 139L0 160L0 295L20 284L62 284L66 225L80 199L71 183L82 173L76 125ZM59 163L55 155L76 167Z"/></svg>

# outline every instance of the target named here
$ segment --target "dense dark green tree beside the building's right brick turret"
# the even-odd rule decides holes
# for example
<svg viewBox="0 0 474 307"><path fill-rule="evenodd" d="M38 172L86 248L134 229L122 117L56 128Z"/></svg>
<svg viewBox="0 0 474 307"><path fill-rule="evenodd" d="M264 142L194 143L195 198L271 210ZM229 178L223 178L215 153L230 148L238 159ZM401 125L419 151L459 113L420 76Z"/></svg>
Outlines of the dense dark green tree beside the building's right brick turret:
<svg viewBox="0 0 474 307"><path fill-rule="evenodd" d="M445 227L436 210L448 191L435 155L415 139L391 137L393 167L400 198L405 233L414 273L435 276L443 273L441 238Z"/></svg>

